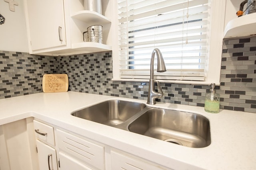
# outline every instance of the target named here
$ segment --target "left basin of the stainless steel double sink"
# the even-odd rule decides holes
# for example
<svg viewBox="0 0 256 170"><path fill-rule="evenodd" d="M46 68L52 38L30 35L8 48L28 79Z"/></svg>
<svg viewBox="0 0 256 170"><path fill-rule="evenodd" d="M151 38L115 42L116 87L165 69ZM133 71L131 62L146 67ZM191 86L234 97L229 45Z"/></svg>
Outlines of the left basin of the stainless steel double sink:
<svg viewBox="0 0 256 170"><path fill-rule="evenodd" d="M139 102L124 100L108 100L72 113L73 116L87 119L105 125L123 123L146 107Z"/></svg>

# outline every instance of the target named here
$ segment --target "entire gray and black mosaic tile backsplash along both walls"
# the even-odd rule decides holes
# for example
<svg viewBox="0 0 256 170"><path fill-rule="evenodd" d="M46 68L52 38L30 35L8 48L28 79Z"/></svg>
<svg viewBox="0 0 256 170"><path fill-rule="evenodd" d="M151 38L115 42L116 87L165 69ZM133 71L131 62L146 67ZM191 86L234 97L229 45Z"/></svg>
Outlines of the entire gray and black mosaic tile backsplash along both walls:
<svg viewBox="0 0 256 170"><path fill-rule="evenodd" d="M148 83L112 81L112 52L48 57L0 51L0 98L42 92L42 76L66 73L69 90L147 100ZM256 113L256 37L224 39L220 108ZM207 85L160 83L158 102L204 107Z"/></svg>

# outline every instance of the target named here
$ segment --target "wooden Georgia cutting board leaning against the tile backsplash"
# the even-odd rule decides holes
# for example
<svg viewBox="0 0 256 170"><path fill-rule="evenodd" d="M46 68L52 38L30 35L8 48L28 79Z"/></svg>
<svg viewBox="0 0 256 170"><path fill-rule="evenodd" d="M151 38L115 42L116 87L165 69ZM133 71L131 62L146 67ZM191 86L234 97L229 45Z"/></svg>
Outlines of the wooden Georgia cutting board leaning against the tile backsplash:
<svg viewBox="0 0 256 170"><path fill-rule="evenodd" d="M68 75L67 74L44 74L43 92L67 92Z"/></svg>

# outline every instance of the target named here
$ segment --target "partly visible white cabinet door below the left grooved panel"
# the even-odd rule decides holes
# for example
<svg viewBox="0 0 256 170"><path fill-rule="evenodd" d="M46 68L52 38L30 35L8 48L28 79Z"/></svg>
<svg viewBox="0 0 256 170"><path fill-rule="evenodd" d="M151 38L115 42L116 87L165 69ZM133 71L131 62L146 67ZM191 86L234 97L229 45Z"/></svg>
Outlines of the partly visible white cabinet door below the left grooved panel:
<svg viewBox="0 0 256 170"><path fill-rule="evenodd" d="M88 166L78 162L76 159L59 152L60 170L92 170Z"/></svg>

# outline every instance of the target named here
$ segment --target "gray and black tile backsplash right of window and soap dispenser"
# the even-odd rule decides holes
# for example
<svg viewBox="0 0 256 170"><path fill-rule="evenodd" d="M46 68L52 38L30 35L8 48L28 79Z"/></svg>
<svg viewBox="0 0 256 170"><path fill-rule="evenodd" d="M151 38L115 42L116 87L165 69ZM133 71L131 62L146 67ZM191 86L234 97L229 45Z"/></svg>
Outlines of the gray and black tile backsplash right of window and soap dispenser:
<svg viewBox="0 0 256 170"><path fill-rule="evenodd" d="M220 72L223 109L256 113L256 37L224 39Z"/></svg>

